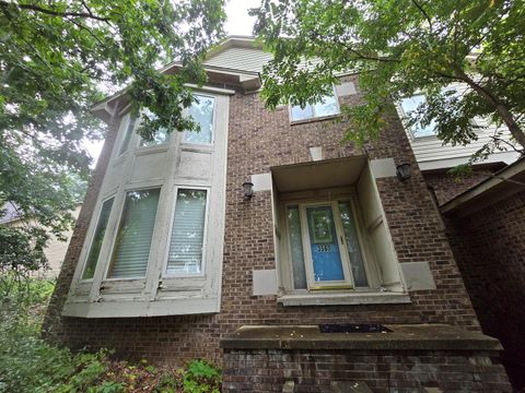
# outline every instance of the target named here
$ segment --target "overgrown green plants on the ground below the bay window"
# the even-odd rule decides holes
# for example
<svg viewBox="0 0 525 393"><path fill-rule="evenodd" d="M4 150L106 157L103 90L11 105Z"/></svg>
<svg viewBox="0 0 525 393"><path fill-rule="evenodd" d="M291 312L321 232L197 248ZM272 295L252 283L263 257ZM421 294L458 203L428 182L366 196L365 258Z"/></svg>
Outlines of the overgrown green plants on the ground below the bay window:
<svg viewBox="0 0 525 393"><path fill-rule="evenodd" d="M40 324L52 288L33 279L0 299L0 393L220 392L221 372L205 360L158 368L112 360L105 349L72 354L44 342Z"/></svg>

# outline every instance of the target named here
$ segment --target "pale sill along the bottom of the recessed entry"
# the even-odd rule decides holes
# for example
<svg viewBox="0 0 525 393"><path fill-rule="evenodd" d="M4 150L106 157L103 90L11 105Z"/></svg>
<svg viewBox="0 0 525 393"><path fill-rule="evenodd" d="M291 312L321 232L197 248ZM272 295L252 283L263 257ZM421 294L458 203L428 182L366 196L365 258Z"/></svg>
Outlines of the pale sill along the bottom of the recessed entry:
<svg viewBox="0 0 525 393"><path fill-rule="evenodd" d="M282 306L340 306L340 305L393 305L410 303L410 296L404 293L338 293L294 294L277 299Z"/></svg>

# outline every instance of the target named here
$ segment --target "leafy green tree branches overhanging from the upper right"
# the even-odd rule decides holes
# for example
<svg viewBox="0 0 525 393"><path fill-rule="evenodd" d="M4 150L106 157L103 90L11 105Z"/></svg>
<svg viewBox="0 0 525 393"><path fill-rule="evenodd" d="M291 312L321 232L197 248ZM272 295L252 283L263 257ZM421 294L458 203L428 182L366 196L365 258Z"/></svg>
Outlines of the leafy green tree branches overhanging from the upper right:
<svg viewBox="0 0 525 393"><path fill-rule="evenodd" d="M364 99L342 108L349 140L377 136L390 103L422 92L427 102L409 124L435 121L439 139L465 145L477 139L472 119L487 118L506 126L514 143L500 129L475 159L494 150L523 153L523 0L262 0L252 14L275 53L262 75L270 108L318 100L338 73L355 72Z"/></svg>

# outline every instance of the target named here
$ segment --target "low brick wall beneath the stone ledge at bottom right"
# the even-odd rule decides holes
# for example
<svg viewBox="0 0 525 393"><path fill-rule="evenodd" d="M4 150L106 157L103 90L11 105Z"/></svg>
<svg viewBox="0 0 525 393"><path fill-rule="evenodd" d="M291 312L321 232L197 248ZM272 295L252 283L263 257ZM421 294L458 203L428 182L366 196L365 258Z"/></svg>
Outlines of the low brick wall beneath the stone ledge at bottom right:
<svg viewBox="0 0 525 393"><path fill-rule="evenodd" d="M223 392L336 392L332 381L353 391L357 381L374 393L512 392L493 353L450 350L225 349ZM339 390L337 390L339 391ZM364 390L355 390L355 392Z"/></svg>

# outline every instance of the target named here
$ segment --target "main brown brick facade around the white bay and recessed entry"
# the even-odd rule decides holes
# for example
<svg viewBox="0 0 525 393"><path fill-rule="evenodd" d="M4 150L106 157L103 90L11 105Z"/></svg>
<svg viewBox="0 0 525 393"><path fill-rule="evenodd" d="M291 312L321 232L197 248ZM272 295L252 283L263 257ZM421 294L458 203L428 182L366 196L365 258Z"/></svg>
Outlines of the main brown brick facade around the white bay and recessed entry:
<svg viewBox="0 0 525 393"><path fill-rule="evenodd" d="M358 99L347 97L347 103ZM359 150L341 144L345 124L315 121L290 126L288 108L269 112L256 94L236 94L230 103L226 213L221 313L213 315L85 320L60 318L71 274L89 225L102 172L104 156L79 218L75 236L65 263L59 286L45 325L46 335L72 347L108 346L127 357L149 357L180 362L191 357L221 359L219 340L244 324L293 324L326 322L450 323L477 330L463 281L445 234L440 226L431 195L417 168L410 145L397 115L382 134L381 143ZM429 262L436 290L411 293L410 305L288 307L275 296L252 295L252 271L275 269L269 192L243 199L241 184L252 174L268 172L276 165L311 160L310 147L324 146L327 158L362 154L371 158L394 157L412 164L412 178L377 182L399 262Z"/></svg>

